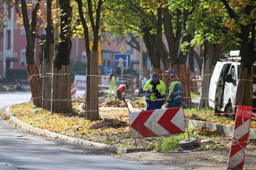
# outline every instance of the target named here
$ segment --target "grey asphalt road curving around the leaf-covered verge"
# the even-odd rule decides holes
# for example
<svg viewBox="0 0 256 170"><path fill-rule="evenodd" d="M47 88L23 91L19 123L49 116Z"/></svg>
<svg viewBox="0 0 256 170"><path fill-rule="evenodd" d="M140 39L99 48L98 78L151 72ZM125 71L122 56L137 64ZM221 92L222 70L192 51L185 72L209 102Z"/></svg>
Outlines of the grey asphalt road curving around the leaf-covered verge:
<svg viewBox="0 0 256 170"><path fill-rule="evenodd" d="M29 101L31 93L0 93L0 110ZM0 116L0 169L161 169L108 157L111 151L33 135Z"/></svg>

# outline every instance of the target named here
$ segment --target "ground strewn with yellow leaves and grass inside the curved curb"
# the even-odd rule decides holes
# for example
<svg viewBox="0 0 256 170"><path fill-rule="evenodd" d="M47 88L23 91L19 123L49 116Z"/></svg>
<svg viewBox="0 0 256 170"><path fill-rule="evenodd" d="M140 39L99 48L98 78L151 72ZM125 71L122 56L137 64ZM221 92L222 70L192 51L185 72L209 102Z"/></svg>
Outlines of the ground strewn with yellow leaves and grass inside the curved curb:
<svg viewBox="0 0 256 170"><path fill-rule="evenodd" d="M52 114L50 111L36 108L32 103L26 103L11 107L11 112L15 117L27 124L55 133L125 148L136 147L135 140L131 138L129 113L126 108L117 110L105 108L105 110L99 112L102 120L91 122L84 120L78 107L79 103L73 103L73 112ZM199 141L204 138L212 138L216 141L220 140L221 136L220 133L212 132L209 128L189 129L189 133L198 138ZM167 151L175 148L181 149L178 147L177 142L187 137L187 133L184 133L154 138L140 138L136 142L138 147L144 147L146 150ZM224 141L209 147L216 145L229 147L229 142ZM200 148L204 150L207 147L202 145Z"/></svg>

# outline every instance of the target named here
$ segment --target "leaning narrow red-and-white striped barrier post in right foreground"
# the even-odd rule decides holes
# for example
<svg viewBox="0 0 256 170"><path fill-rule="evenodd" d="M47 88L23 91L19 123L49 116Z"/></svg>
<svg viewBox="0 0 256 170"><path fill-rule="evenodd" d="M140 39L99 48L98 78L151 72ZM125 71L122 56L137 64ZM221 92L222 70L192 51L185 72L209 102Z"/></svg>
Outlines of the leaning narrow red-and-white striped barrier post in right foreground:
<svg viewBox="0 0 256 170"><path fill-rule="evenodd" d="M228 156L228 168L243 168L249 136L252 107L237 106L236 120Z"/></svg>

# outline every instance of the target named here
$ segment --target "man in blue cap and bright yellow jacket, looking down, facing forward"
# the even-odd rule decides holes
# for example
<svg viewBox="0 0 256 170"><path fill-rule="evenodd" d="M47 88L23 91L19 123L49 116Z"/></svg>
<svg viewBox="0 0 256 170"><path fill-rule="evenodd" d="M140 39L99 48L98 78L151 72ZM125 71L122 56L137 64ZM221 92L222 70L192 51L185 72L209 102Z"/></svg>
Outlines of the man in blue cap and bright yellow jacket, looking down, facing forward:
<svg viewBox="0 0 256 170"><path fill-rule="evenodd" d="M164 104L166 86L164 81L158 78L157 73L153 73L143 87L146 97L147 110L161 109Z"/></svg>

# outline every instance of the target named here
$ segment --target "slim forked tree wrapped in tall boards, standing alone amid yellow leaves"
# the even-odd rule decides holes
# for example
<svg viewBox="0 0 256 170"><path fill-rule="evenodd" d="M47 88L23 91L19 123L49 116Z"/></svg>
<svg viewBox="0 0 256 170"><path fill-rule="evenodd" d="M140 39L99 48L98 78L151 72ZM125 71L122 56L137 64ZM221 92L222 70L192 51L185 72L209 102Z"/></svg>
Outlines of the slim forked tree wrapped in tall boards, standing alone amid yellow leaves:
<svg viewBox="0 0 256 170"><path fill-rule="evenodd" d="M86 67L86 99L85 99L85 116L86 120L95 120L99 118L99 105L98 105L98 41L99 41L99 28L100 28L100 12L101 6L107 0L96 1L87 0L87 7L83 10L84 2L82 0L75 0L78 4L78 13L81 20L81 24L84 30L85 51L87 56ZM89 28L88 21L86 22L84 13L88 13L89 20L93 32L93 47L90 51L89 46ZM93 14L96 12L96 16Z"/></svg>

